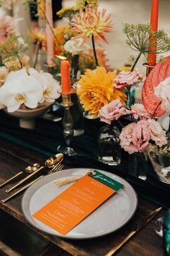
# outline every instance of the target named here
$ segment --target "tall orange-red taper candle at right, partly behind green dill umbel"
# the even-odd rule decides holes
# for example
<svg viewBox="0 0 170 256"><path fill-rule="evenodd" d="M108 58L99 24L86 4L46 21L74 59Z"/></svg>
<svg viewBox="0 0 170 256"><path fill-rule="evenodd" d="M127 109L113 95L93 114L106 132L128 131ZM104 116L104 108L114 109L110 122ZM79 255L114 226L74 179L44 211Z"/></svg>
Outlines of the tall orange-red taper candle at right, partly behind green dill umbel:
<svg viewBox="0 0 170 256"><path fill-rule="evenodd" d="M158 31L158 0L152 0L152 5L151 5L151 30L153 32ZM153 36L150 37L149 41L150 43L154 40ZM156 54L153 54L152 51L156 50L155 47L149 48L149 53L148 53L148 65L154 66L156 64Z"/></svg>

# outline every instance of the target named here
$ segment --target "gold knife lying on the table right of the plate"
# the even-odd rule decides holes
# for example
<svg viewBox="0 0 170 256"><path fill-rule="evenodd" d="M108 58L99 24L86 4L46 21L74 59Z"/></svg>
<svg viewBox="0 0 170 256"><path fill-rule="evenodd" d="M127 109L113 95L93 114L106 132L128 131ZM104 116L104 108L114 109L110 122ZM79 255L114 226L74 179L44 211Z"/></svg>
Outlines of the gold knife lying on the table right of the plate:
<svg viewBox="0 0 170 256"><path fill-rule="evenodd" d="M156 210L154 210L153 212L149 213L149 215L146 218L143 218L143 220L139 221L138 224L136 225L135 229L133 231L130 232L130 234L128 234L128 236L125 237L125 239L122 240L122 242L120 242L120 244L117 244L115 247L113 247L112 249L109 250L109 252L107 252L106 255L104 256L112 256L114 255L115 252L117 252L118 249L120 249L120 247L122 247L123 244L125 244L126 242L128 242L128 240L134 236L138 231L140 231L140 229L143 229L144 226L146 226L146 224L151 221L151 219L156 216L156 214L161 210L161 208L158 208Z"/></svg>

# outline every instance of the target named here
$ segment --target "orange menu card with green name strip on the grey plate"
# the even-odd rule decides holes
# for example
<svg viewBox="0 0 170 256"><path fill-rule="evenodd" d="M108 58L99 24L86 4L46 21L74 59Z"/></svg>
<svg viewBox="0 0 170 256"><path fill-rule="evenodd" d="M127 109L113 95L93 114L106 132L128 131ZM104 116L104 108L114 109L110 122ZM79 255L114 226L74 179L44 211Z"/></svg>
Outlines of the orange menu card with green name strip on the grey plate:
<svg viewBox="0 0 170 256"><path fill-rule="evenodd" d="M99 171L90 171L33 215L65 235L123 185Z"/></svg>

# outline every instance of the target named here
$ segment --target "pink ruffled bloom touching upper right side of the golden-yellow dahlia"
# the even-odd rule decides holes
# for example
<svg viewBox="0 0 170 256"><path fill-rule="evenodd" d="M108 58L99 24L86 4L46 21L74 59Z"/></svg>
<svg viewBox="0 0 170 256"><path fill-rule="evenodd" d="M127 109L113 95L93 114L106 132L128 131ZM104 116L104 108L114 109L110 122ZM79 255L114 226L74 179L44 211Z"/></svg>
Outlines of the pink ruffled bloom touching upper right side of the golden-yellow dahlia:
<svg viewBox="0 0 170 256"><path fill-rule="evenodd" d="M137 71L121 71L115 77L115 88L125 88L142 80L142 74Z"/></svg>

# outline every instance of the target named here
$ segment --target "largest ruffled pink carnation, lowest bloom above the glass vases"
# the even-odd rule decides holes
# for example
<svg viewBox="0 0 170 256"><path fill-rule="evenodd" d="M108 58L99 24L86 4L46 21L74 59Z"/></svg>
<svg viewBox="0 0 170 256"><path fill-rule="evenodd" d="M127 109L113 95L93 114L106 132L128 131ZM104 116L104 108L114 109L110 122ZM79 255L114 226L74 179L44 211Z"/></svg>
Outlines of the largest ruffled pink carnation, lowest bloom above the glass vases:
<svg viewBox="0 0 170 256"><path fill-rule="evenodd" d="M143 152L148 148L150 138L148 121L140 120L138 123L128 124L122 129L120 133L120 145L130 154Z"/></svg>

